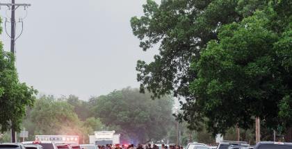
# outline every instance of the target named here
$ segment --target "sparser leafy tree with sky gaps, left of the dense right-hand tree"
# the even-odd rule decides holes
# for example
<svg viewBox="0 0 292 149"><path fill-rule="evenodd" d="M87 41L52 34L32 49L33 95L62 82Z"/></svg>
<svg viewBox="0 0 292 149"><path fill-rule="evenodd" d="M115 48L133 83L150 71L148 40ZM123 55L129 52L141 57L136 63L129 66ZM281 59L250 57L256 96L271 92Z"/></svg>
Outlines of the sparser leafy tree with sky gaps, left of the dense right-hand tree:
<svg viewBox="0 0 292 149"><path fill-rule="evenodd" d="M190 62L200 58L200 51L210 40L218 40L218 28L241 21L243 16L267 3L264 0L147 0L144 15L132 17L131 27L143 51L159 44L153 62L138 60L140 90L154 97L174 93L193 100L189 82L197 76Z"/></svg>

